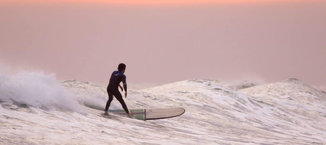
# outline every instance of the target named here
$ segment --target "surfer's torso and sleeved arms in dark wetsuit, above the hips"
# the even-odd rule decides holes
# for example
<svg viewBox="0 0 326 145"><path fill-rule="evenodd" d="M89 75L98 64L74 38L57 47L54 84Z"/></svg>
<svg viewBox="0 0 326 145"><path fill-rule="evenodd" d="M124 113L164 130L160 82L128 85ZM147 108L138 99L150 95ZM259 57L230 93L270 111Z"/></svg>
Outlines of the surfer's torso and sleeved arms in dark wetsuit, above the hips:
<svg viewBox="0 0 326 145"><path fill-rule="evenodd" d="M122 71L113 71L107 89L112 91L117 90L121 81L123 82L125 91L127 91L126 75Z"/></svg>

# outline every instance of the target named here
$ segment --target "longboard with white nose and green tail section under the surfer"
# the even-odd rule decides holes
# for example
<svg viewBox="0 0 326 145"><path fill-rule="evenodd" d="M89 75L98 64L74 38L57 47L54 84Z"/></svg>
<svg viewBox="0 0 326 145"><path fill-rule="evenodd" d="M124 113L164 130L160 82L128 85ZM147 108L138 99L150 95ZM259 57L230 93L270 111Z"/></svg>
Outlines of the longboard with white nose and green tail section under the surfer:
<svg viewBox="0 0 326 145"><path fill-rule="evenodd" d="M129 109L133 112L132 117L138 120L155 120L177 117L185 113L183 108L162 108L162 109ZM127 115L125 110L109 110L110 113Z"/></svg>

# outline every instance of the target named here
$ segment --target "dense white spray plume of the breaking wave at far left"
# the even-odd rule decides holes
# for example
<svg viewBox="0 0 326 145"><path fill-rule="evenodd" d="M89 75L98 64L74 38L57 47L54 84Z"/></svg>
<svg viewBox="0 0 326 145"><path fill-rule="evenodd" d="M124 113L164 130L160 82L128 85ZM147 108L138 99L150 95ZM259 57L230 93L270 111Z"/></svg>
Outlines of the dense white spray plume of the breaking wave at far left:
<svg viewBox="0 0 326 145"><path fill-rule="evenodd" d="M16 102L22 105L59 108L71 111L81 109L81 105L73 100L56 80L55 74L45 75L42 71L22 71L15 75L0 73L0 100Z"/></svg>

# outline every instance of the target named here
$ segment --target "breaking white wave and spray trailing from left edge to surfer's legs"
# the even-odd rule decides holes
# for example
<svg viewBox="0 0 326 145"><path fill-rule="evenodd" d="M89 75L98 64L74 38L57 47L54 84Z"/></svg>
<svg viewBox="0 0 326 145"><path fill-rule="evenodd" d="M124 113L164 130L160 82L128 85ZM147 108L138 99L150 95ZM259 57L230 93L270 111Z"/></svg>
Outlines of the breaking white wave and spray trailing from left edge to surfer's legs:
<svg viewBox="0 0 326 145"><path fill-rule="evenodd" d="M10 67L1 66L0 101L42 109L62 109L86 113L84 105L104 109L107 98L100 93L81 93L67 90L56 79L55 74L45 74L41 70L21 70L11 74ZM66 81L67 82L67 81ZM112 108L116 107L114 104Z"/></svg>

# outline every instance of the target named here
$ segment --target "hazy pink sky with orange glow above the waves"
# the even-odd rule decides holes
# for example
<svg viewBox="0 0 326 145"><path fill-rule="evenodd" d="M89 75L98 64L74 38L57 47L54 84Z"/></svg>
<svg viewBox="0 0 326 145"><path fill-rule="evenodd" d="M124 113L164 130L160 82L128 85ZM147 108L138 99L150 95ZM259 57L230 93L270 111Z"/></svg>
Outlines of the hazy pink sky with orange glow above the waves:
<svg viewBox="0 0 326 145"><path fill-rule="evenodd" d="M326 1L25 2L0 1L0 60L15 67L108 82L123 62L129 82L297 78L326 85Z"/></svg>

